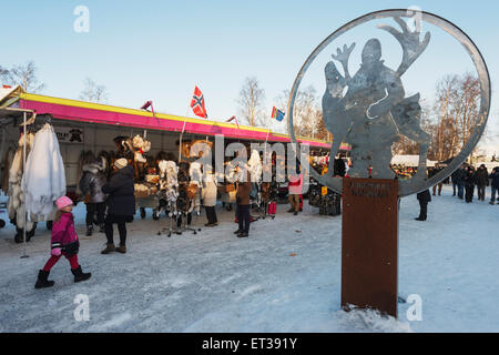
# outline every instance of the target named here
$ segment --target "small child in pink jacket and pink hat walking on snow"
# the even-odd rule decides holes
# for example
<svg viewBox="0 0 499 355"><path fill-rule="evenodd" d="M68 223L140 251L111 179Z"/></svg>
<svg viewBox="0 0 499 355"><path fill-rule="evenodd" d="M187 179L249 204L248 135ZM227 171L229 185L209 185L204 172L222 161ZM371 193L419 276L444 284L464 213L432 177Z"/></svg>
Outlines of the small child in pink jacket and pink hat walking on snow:
<svg viewBox="0 0 499 355"><path fill-rule="evenodd" d="M58 212L52 225L51 256L43 270L40 270L38 273L35 288L53 286L54 282L48 280L49 273L62 255L68 258L71 265L74 282L85 281L92 275L91 273L83 273L78 263L80 242L74 231L73 214L71 213L74 206L73 202L68 196L62 196L55 201L55 205Z"/></svg>

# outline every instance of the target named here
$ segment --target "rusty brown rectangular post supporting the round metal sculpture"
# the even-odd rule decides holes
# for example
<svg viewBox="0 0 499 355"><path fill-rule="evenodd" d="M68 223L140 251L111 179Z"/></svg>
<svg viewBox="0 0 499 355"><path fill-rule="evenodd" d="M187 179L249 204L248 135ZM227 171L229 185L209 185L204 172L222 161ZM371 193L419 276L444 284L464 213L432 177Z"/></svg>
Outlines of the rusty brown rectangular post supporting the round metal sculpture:
<svg viewBox="0 0 499 355"><path fill-rule="evenodd" d="M397 316L398 181L343 179L342 307Z"/></svg>

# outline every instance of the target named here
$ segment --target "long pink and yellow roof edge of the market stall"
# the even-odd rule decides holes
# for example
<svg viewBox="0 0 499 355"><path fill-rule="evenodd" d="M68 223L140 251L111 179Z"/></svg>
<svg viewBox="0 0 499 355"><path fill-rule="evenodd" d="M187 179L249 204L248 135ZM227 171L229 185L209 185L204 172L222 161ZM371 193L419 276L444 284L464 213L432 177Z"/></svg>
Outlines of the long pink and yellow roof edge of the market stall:
<svg viewBox="0 0 499 355"><path fill-rule="evenodd" d="M181 132L184 120L186 133L201 135L223 134L226 138L265 141L268 134L269 142L289 142L287 134L268 132L263 128L253 128L227 123L208 121L204 119L184 118L173 114L157 113L155 118L152 112L113 106L101 103L84 102L52 98L31 93L20 94L20 108L34 110L38 114L50 113L54 119L72 120L80 122L116 124L125 126L136 126L143 129L165 130ZM330 142L302 139L298 142L316 148L330 148Z"/></svg>

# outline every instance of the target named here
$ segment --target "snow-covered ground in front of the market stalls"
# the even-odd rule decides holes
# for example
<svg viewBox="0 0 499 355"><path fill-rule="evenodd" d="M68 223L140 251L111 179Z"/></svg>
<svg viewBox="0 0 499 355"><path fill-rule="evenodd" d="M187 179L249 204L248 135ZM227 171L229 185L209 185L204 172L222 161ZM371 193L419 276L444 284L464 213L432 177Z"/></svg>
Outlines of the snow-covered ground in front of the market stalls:
<svg viewBox="0 0 499 355"><path fill-rule="evenodd" d="M499 205L466 204L445 186L426 222L414 220L416 196L400 206L399 293L421 297L421 321L407 320L410 304L399 304L398 321L340 311L340 216L307 202L297 217L278 205L275 220L252 223L248 239L235 237L233 212L222 209L217 227L172 237L157 235L169 221L147 211L129 224L124 255L101 255L103 234L84 236L80 204L88 282L74 284L61 258L55 285L34 290L49 233L39 226L20 258L13 227L0 230L0 332L499 332ZM73 315L79 294L89 297L88 322Z"/></svg>

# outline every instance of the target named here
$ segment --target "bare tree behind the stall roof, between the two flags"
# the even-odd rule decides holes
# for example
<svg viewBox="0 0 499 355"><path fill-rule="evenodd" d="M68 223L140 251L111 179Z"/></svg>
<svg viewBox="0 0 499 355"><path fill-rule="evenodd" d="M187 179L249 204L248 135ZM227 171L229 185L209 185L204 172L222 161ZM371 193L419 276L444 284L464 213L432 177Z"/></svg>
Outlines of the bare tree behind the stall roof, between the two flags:
<svg viewBox="0 0 499 355"><path fill-rule="evenodd" d="M255 77L246 78L241 88L240 112L247 124L252 126L265 126L265 112L263 101L265 100L265 91L259 88L258 80Z"/></svg>

